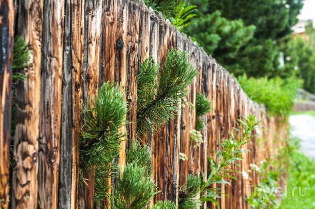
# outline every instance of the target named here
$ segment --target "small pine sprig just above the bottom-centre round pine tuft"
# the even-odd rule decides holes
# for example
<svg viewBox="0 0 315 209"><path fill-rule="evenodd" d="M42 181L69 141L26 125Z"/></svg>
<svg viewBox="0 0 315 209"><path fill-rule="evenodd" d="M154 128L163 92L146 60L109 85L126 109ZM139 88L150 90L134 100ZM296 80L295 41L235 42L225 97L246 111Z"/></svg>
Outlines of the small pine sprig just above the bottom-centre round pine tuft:
<svg viewBox="0 0 315 209"><path fill-rule="evenodd" d="M147 145L142 147L138 140L132 140L126 161L127 163L135 163L143 167L145 169L145 175L150 176L152 166L150 151Z"/></svg>

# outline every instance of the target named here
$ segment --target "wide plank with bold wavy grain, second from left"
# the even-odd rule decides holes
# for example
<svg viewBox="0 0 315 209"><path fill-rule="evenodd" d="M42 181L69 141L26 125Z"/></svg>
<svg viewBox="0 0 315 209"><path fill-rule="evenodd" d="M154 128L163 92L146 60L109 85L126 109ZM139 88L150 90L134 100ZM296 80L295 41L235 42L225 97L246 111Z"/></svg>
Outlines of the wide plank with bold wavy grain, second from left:
<svg viewBox="0 0 315 209"><path fill-rule="evenodd" d="M18 13L17 35L29 44L31 64L22 69L27 79L16 85L12 207L36 208L43 4L20 1Z"/></svg>

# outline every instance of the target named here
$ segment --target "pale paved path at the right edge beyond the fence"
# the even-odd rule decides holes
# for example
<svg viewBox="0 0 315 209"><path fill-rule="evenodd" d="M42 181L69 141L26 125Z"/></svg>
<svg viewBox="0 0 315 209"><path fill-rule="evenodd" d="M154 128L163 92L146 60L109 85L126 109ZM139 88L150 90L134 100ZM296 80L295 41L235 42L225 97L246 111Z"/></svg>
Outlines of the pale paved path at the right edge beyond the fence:
<svg viewBox="0 0 315 209"><path fill-rule="evenodd" d="M315 117L307 114L289 117L291 134L301 139L301 150L315 160Z"/></svg>

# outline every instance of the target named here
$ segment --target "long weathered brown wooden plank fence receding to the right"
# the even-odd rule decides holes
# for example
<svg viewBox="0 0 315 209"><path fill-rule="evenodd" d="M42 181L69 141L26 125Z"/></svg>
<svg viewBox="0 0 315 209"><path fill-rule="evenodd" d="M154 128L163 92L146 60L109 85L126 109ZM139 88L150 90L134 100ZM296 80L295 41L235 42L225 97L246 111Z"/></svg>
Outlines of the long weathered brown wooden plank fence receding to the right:
<svg viewBox="0 0 315 209"><path fill-rule="evenodd" d="M244 160L238 171L250 163L272 156L285 134L279 118L268 115L265 108L251 101L237 80L185 34L173 28L162 15L155 15L140 1L134 0L13 0L0 4L0 201L9 205L9 138L11 109L11 75L13 33L29 43L31 65L22 70L28 76L15 89L16 118L12 170L13 208L92 208L93 178L88 186L79 178L79 137L82 101L96 95L105 81L121 83L131 123L125 127L127 140L121 143L118 162L123 168L125 149L136 138L137 73L148 56L160 62L168 49L190 53L190 61L200 72L187 88L186 101L195 104L196 92L206 95L212 111L203 116L206 126L204 142L194 147L189 132L195 128L195 110L181 105L181 111L154 135L142 139L152 152L152 178L159 190L154 200L178 202L178 188L188 174L209 173L207 157L220 149L219 141L229 137L239 115L253 114L261 119L263 139L246 144ZM15 18L15 20L14 20ZM15 26L14 26L15 22ZM13 28L15 30L13 30ZM14 32L13 32L14 31ZM258 131L258 130L256 130ZM280 135L275 138L278 131ZM276 143L275 143L275 140ZM179 159L184 153L188 160ZM245 180L220 186L231 198L219 199L221 208L246 208L246 185L258 183L249 174ZM251 180L250 180L251 179ZM208 206L212 206L207 203ZM206 208L206 204L203 205Z"/></svg>

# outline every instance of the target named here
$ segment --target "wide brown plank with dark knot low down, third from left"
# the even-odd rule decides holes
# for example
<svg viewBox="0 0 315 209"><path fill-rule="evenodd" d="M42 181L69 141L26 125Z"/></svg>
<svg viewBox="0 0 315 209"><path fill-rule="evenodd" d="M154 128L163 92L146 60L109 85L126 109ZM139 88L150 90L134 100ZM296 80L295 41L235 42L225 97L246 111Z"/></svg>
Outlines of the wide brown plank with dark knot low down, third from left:
<svg viewBox="0 0 315 209"><path fill-rule="evenodd" d="M57 208L60 161L64 4L45 1L38 169L38 208Z"/></svg>

